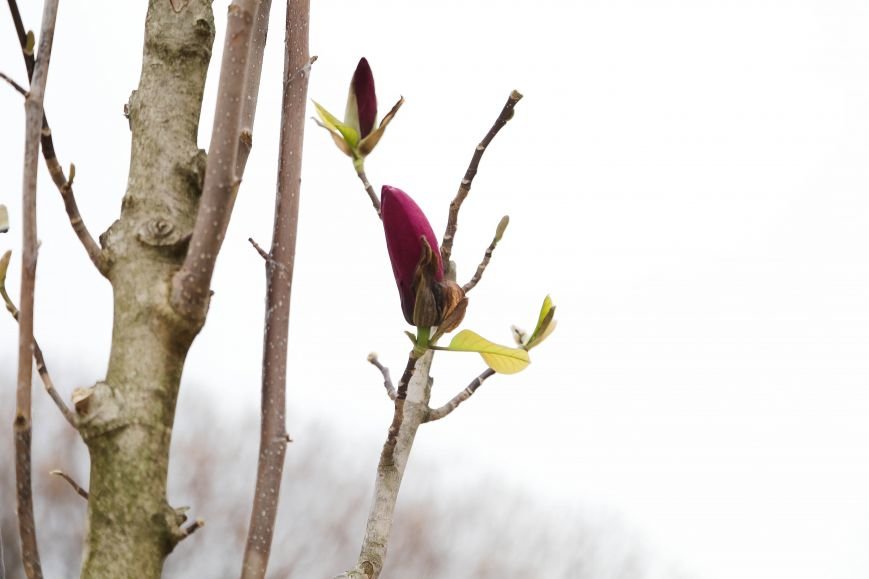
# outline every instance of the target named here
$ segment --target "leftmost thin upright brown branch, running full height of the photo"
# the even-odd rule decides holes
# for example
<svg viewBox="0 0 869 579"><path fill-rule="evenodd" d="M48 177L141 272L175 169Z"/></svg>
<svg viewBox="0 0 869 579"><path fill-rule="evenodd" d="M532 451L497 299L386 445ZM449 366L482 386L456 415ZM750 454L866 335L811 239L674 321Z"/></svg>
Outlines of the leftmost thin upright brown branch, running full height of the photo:
<svg viewBox="0 0 869 579"><path fill-rule="evenodd" d="M33 381L33 293L36 285L36 175L39 167L39 141L42 128L42 103L48 81L48 65L54 41L58 0L46 0L39 33L39 59L34 68L30 92L24 103L24 176L22 185L23 241L21 264L21 313L18 320L18 386L16 389L15 479L18 490L18 531L21 558L28 579L42 577L36 522L33 517L30 443L31 384Z"/></svg>

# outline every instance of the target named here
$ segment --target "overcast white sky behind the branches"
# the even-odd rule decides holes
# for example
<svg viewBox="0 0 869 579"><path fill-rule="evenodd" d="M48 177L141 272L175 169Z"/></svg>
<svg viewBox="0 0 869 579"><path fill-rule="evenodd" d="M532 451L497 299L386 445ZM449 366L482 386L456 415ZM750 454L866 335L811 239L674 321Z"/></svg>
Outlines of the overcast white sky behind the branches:
<svg viewBox="0 0 869 579"><path fill-rule="evenodd" d="M38 28L39 3L24 4ZM135 4L61 6L46 108L95 234L125 187ZM203 397L258 407L263 268L246 239L267 243L271 230L275 4L254 153L181 416ZM415 457L457 480L495 469L555 503L619 512L699 578L869 576L866 30L869 5L856 0L315 2L310 96L342 112L362 55L382 109L404 95L368 174L413 195L437 232L473 147L510 90L525 94L483 160L454 258L468 276L509 213L465 326L508 341L551 292L559 328L527 371L425 427ZM5 13L0 70L25 78ZM203 145L215 85L212 74ZM5 89L0 129L14 227L0 241L17 249L23 107ZM350 163L313 123L306 143L289 429L304 441L296 425L326 419L370 441L374 464L391 408L365 356L397 371L407 328ZM68 394L103 375L110 288L44 172L40 195L36 327ZM15 336L0 323L8 387ZM481 368L472 354L439 355L436 401Z"/></svg>

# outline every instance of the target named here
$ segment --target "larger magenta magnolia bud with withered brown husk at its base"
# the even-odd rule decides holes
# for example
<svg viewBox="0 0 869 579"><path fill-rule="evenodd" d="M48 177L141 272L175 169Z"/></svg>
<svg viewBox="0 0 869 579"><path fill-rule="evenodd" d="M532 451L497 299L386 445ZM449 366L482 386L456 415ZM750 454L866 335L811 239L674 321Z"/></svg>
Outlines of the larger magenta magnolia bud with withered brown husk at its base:
<svg viewBox="0 0 869 579"><path fill-rule="evenodd" d="M415 326L438 325L444 267L431 224L407 193L389 185L381 190L380 211L404 319Z"/></svg>

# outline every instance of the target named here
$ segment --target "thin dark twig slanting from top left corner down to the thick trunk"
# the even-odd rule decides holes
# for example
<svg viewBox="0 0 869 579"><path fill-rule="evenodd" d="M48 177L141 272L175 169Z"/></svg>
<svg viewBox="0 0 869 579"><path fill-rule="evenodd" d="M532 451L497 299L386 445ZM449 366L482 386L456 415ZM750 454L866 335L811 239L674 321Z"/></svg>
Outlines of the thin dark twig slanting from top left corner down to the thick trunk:
<svg viewBox="0 0 869 579"><path fill-rule="evenodd" d="M21 45L21 54L24 57L24 66L27 68L27 78L32 82L34 71L33 53L27 49L27 33L24 30L24 23L21 21L21 13L18 10L16 0L8 0L9 11L12 14L12 20L15 23L15 32L18 35L18 42ZM75 194L72 189L72 181L74 177L74 168L70 166L70 177L66 178L63 172L63 167L57 160L57 153L54 150L54 138L51 136L51 127L48 124L48 117L45 111L42 112L42 131L40 135L42 141L42 156L45 159L45 165L48 168L48 173L51 175L51 180L54 181L57 190L60 192L63 199L63 206L66 209L66 215L69 218L69 223L72 225L72 230L75 232L81 244L84 246L91 262L96 266L97 270L107 276L109 271L109 261L102 248L94 241L90 231L82 220L81 213L78 210L78 203L75 200Z"/></svg>

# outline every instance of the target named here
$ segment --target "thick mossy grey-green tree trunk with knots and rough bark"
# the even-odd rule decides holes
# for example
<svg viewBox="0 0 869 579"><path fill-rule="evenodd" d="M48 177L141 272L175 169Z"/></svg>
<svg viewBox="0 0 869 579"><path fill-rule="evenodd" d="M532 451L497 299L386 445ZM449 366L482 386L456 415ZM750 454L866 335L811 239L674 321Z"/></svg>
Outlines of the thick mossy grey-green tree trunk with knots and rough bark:
<svg viewBox="0 0 869 579"><path fill-rule="evenodd" d="M149 1L127 191L101 237L114 290L108 371L76 396L91 457L84 578L158 578L183 537L184 517L166 499L169 444L202 320L178 315L170 288L202 191L196 138L213 40L209 0Z"/></svg>

